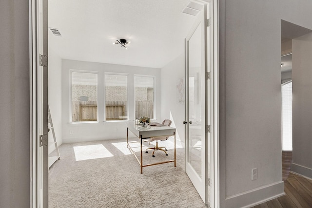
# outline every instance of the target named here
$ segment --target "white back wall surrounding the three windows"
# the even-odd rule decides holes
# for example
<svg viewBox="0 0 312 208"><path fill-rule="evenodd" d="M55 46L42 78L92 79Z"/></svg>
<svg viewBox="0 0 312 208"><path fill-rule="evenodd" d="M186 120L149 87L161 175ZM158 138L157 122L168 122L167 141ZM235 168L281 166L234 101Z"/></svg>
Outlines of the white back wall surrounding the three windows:
<svg viewBox="0 0 312 208"><path fill-rule="evenodd" d="M96 123L70 123L70 70L98 72L98 120ZM104 72L128 74L129 118L134 120L134 75L155 76L156 121L160 119L160 69L62 59L62 139L63 143L126 138L125 121L104 122ZM131 90L133 89L133 90ZM101 110L102 109L102 110ZM134 136L134 135L129 135Z"/></svg>

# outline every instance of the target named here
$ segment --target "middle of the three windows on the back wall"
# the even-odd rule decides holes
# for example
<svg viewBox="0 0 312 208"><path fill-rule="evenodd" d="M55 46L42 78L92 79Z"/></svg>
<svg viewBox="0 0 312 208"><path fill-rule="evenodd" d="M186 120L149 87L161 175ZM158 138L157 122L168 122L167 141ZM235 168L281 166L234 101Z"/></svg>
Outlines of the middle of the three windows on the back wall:
<svg viewBox="0 0 312 208"><path fill-rule="evenodd" d="M128 88L126 75L105 75L105 118L106 120L128 119Z"/></svg>

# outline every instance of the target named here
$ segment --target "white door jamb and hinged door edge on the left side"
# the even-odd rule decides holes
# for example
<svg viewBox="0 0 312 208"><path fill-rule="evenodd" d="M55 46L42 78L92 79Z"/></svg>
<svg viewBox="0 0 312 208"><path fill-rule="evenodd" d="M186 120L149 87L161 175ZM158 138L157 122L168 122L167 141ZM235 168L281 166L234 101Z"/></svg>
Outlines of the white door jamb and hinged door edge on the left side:
<svg viewBox="0 0 312 208"><path fill-rule="evenodd" d="M48 208L48 0L30 0L32 208Z"/></svg>

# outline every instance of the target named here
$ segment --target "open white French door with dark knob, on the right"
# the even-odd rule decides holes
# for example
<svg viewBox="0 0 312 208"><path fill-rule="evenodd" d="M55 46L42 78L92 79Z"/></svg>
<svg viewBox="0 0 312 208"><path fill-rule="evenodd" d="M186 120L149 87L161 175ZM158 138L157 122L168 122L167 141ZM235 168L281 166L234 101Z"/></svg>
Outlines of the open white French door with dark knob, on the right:
<svg viewBox="0 0 312 208"><path fill-rule="evenodd" d="M185 170L205 204L214 207L212 2L206 2L185 39ZM210 24L210 25L209 25ZM211 29L210 29L211 28Z"/></svg>

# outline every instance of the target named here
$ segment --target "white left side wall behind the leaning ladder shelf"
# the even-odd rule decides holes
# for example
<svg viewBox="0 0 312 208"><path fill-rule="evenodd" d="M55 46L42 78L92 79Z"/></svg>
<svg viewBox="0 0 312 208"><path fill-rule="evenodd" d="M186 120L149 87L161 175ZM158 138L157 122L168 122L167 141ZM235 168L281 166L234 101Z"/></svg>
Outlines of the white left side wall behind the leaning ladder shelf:
<svg viewBox="0 0 312 208"><path fill-rule="evenodd" d="M62 59L49 48L49 107L58 146L62 140ZM52 131L49 140L53 141ZM55 150L54 145L49 146L49 153Z"/></svg>

